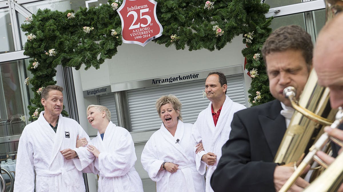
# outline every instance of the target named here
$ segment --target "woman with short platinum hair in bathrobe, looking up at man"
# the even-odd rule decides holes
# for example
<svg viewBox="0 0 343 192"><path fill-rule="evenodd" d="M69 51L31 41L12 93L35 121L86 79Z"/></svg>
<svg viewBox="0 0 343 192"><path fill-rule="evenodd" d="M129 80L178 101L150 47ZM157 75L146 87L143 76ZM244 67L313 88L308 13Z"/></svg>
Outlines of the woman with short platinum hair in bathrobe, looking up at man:
<svg viewBox="0 0 343 192"><path fill-rule="evenodd" d="M93 167L88 168L99 175L98 192L143 192L142 180L134 168L137 157L129 131L113 124L110 111L102 105L88 106L87 119L98 129L93 145L87 146L96 157Z"/></svg>

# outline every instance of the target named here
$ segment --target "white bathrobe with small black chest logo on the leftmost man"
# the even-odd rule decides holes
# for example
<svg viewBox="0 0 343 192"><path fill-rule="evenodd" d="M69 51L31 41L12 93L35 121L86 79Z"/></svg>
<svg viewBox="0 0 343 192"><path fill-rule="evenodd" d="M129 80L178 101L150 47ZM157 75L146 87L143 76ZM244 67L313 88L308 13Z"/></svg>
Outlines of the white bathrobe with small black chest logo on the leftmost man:
<svg viewBox="0 0 343 192"><path fill-rule="evenodd" d="M76 149L76 137L87 133L73 119L58 118L57 132L45 120L44 111L28 124L19 139L14 192L84 192L81 170L92 163L94 155L86 148ZM75 150L80 158L64 159L64 149Z"/></svg>

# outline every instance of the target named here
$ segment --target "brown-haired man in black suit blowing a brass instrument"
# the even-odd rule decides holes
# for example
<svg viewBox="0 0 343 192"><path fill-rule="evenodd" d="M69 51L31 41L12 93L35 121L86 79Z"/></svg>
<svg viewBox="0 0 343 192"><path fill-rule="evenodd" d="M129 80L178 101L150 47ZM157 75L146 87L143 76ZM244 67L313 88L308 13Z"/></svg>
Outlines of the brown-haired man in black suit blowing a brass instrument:
<svg viewBox="0 0 343 192"><path fill-rule="evenodd" d="M276 29L265 41L262 54L276 100L234 114L229 140L211 178L215 192L279 191L294 172L293 165L273 162L294 112L282 92L288 86L303 90L312 68L312 49L310 35L295 25ZM308 185L298 178L291 191Z"/></svg>

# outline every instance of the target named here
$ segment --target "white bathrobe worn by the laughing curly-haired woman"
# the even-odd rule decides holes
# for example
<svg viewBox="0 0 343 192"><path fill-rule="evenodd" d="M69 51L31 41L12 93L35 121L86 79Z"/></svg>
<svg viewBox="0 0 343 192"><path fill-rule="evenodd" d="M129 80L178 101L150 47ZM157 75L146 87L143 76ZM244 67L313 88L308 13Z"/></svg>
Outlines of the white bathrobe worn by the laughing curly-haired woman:
<svg viewBox="0 0 343 192"><path fill-rule="evenodd" d="M192 139L191 132L192 124L179 120L173 137L162 123L161 128L145 144L141 162L149 177L157 182L157 192L204 191L205 164L199 167L201 175L194 160L197 143ZM159 171L163 162L177 164L179 169L174 173Z"/></svg>

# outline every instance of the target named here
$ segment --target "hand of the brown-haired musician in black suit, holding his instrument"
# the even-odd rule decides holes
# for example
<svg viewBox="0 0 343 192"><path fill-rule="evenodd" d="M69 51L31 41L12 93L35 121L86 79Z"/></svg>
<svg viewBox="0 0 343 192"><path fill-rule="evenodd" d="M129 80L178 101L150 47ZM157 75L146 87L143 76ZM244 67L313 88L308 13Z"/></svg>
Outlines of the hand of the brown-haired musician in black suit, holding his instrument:
<svg viewBox="0 0 343 192"><path fill-rule="evenodd" d="M307 172L308 169L305 169L304 172ZM274 170L274 187L275 191L280 191L281 187L285 182L291 177L294 172L294 168L288 165L276 166ZM303 178L299 177L288 190L289 192L301 192L306 188L310 183L305 181Z"/></svg>

